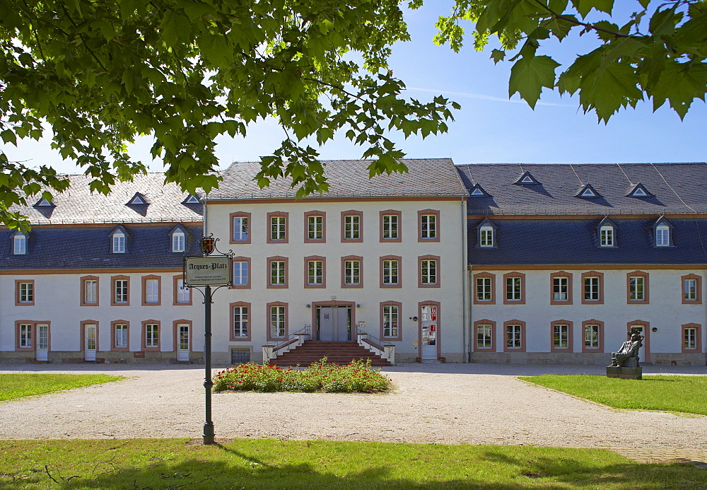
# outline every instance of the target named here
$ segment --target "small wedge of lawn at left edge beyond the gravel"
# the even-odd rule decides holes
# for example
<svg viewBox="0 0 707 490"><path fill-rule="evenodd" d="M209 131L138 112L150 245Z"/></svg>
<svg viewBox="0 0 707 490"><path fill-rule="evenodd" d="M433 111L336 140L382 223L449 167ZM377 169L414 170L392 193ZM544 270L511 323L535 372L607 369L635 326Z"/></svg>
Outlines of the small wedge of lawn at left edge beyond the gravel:
<svg viewBox="0 0 707 490"><path fill-rule="evenodd" d="M107 374L0 374L0 402L122 379Z"/></svg>

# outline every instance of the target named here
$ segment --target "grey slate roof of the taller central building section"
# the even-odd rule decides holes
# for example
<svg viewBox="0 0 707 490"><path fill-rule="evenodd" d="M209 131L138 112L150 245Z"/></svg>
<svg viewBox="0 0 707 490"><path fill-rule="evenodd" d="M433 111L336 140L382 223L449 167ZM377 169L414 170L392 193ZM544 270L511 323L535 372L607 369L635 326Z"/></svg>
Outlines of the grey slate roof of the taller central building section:
<svg viewBox="0 0 707 490"><path fill-rule="evenodd" d="M392 173L368 178L370 161L322 161L329 182L329 192L312 197L412 197L465 196L467 189L449 158L402 161L408 173ZM253 180L260 170L257 162L232 163L223 173L223 182L209 193L211 199L271 199L292 198L290 177L272 180L260 189Z"/></svg>

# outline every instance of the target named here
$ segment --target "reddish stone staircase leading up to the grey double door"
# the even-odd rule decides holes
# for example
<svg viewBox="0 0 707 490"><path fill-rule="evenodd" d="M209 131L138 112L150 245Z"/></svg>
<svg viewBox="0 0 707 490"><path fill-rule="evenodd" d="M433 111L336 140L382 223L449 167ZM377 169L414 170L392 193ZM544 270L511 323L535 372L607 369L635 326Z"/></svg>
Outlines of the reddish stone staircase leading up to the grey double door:
<svg viewBox="0 0 707 490"><path fill-rule="evenodd" d="M319 361L322 357L327 358L327 363L348 364L351 361L370 359L371 366L391 366L390 362L381 358L378 354L373 354L357 342L319 342L305 340L302 345L291 351L280 354L271 359L271 366L309 366L311 363Z"/></svg>

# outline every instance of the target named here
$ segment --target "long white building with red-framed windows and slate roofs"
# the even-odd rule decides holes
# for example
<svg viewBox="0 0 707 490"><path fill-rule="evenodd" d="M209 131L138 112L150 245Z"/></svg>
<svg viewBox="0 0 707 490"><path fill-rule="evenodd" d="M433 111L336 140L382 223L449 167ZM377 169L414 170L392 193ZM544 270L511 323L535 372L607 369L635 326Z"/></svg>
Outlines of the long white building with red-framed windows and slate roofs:
<svg viewBox="0 0 707 490"><path fill-rule="evenodd" d="M259 189L257 163L208 197L72 177L19 209L28 234L0 229L0 361L201 361L204 306L181 281L203 234L235 255L217 364L361 332L396 362L604 364L638 328L643 362L706 365L707 165L429 159L369 180L368 163L325 162L329 191L303 199Z"/></svg>

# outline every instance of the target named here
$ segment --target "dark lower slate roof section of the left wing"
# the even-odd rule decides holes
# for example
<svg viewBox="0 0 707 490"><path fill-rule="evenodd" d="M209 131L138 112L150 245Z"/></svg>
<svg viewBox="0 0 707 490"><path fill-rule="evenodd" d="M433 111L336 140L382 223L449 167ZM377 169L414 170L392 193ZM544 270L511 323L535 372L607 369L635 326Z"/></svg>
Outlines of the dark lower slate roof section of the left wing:
<svg viewBox="0 0 707 490"><path fill-rule="evenodd" d="M108 269L182 267L183 255L201 255L201 226L184 226L187 250L172 252L165 226L124 225L127 252L112 253L110 233L115 226L37 226L28 234L27 253L13 255L14 230L0 229L0 269Z"/></svg>

